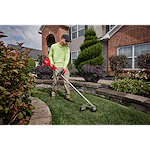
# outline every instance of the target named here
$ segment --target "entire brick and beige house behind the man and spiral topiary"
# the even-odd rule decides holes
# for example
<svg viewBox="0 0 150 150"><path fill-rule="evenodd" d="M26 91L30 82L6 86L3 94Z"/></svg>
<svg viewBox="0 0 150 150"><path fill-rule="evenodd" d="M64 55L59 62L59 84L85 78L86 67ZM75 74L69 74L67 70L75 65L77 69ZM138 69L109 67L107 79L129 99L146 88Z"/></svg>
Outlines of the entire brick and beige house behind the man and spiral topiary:
<svg viewBox="0 0 150 150"><path fill-rule="evenodd" d="M72 25L69 25L70 23ZM141 53L150 53L150 25L148 23L57 22L56 24L42 24L39 29L39 33L42 34L42 55L48 55L50 46L59 42L63 34L68 34L72 40L68 46L71 50L70 60L73 63L80 53L80 45L84 42L84 33L91 27L96 31L97 37L103 45L103 67L108 76L114 75L108 60L112 55L126 55L129 65L125 70L137 70L136 57Z"/></svg>

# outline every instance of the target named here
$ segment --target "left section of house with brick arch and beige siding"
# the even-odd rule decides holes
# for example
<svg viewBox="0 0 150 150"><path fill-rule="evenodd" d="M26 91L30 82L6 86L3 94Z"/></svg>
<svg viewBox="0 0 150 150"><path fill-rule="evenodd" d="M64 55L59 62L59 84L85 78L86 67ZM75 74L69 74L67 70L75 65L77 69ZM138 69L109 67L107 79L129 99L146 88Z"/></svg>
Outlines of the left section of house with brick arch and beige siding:
<svg viewBox="0 0 150 150"><path fill-rule="evenodd" d="M50 24L46 24L48 22L43 23L45 24L42 24L38 31L39 34L42 34L42 55L48 55L50 46L53 43L59 42L63 34L68 34L72 40L72 42L68 44L71 51L70 60L72 64L80 53L80 46L84 42L84 33L88 28L92 27L96 31L98 39L100 39L115 25L115 22L107 24L103 22L97 22L99 24L93 22L55 22L55 24L52 22ZM102 54L106 58L104 59L103 66L104 68L107 68L107 42L102 41L101 43L103 44Z"/></svg>

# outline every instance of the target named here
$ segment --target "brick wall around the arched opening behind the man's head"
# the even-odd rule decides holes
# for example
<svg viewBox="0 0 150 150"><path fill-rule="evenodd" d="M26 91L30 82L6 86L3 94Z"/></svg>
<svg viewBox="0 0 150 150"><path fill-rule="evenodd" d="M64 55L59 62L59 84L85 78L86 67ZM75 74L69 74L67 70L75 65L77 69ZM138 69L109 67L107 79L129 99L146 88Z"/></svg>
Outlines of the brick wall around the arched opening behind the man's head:
<svg viewBox="0 0 150 150"><path fill-rule="evenodd" d="M55 38L55 42L59 42L63 34L68 34L68 29L63 25L46 25L42 33L42 55L48 55L47 40L49 35L52 34Z"/></svg>

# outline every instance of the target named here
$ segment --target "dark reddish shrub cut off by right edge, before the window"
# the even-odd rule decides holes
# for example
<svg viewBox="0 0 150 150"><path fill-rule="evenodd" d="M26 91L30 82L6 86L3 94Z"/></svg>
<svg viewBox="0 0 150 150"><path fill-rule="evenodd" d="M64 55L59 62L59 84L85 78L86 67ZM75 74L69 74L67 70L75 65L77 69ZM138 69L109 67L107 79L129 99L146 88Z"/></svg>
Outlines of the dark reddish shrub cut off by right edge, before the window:
<svg viewBox="0 0 150 150"><path fill-rule="evenodd" d="M150 72L148 71L150 69L150 54L141 54L137 57L137 65L141 69L145 69L145 72L147 73L148 80L150 81Z"/></svg>

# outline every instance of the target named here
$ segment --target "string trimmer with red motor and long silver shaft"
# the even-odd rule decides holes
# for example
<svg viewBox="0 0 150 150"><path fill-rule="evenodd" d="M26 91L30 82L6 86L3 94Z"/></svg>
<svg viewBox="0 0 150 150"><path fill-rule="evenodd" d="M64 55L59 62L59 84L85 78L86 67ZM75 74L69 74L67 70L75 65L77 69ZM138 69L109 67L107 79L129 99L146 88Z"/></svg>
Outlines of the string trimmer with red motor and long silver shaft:
<svg viewBox="0 0 150 150"><path fill-rule="evenodd" d="M50 60L47 56L43 55L43 59L42 62L46 65L46 66L50 66ZM62 74L62 72L59 72L57 69L55 69L55 71L58 73L58 76L61 76L64 80L66 80L66 82L89 104L83 104L80 108L80 111L83 111L85 109L90 109L92 112L96 112L97 109L96 107L90 102L88 101L75 87L74 85L72 85Z"/></svg>

